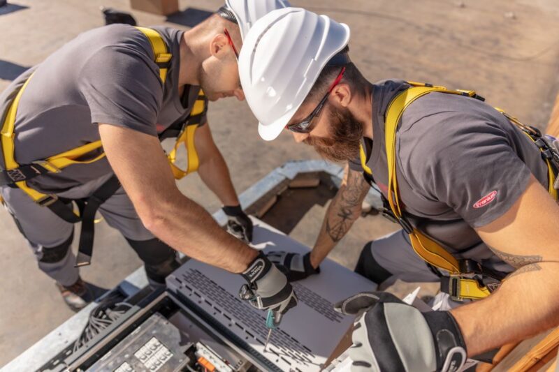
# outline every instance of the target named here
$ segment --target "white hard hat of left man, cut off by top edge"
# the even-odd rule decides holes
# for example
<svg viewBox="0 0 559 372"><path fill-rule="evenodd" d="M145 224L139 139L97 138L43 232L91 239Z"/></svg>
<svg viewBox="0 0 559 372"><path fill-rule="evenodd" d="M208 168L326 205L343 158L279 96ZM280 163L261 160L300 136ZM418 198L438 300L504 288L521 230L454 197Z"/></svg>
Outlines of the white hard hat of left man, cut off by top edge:
<svg viewBox="0 0 559 372"><path fill-rule="evenodd" d="M272 10L288 6L291 5L287 0L225 0L225 6L219 9L218 13L228 20L236 21L239 25L240 37L244 39L254 22Z"/></svg>

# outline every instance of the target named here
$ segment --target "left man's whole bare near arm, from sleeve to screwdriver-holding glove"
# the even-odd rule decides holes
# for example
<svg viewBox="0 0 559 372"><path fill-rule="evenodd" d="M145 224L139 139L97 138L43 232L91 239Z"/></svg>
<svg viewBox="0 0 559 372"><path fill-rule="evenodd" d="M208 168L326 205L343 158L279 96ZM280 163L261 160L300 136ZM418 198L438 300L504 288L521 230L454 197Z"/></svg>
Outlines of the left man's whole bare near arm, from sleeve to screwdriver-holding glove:
<svg viewBox="0 0 559 372"><path fill-rule="evenodd" d="M228 271L244 271L256 251L219 228L180 193L157 137L99 124L108 161L145 227L169 246ZM138 167L142 172L138 172Z"/></svg>

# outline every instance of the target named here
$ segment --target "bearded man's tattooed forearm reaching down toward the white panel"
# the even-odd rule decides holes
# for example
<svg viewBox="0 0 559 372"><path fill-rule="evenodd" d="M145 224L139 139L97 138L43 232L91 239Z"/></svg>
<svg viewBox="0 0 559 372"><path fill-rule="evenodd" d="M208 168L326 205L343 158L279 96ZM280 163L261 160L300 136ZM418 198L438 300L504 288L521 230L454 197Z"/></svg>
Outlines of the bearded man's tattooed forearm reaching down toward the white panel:
<svg viewBox="0 0 559 372"><path fill-rule="evenodd" d="M345 166L344 179L340 190L333 198L317 242L312 248L310 262L313 267L318 267L320 262L332 251L338 241L346 235L354 221L361 214L361 203L369 191L369 184L361 172L356 172Z"/></svg>

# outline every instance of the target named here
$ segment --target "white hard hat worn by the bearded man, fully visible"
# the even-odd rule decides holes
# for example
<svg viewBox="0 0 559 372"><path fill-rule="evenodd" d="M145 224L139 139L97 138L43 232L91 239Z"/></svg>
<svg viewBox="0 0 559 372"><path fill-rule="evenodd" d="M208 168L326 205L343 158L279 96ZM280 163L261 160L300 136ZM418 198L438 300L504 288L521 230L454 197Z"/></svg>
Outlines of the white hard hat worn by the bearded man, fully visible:
<svg viewBox="0 0 559 372"><path fill-rule="evenodd" d="M240 52L239 75L264 140L282 133L321 70L348 42L347 24L302 8L274 10L253 25Z"/></svg>

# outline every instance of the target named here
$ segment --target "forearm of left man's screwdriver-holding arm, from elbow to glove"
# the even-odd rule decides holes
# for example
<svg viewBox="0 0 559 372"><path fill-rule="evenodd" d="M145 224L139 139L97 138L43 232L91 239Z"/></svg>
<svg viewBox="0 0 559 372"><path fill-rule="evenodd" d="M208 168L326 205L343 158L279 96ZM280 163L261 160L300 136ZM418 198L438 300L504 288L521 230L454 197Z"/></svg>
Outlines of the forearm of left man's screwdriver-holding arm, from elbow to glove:
<svg viewBox="0 0 559 372"><path fill-rule="evenodd" d="M254 249L225 232L205 209L180 193L150 208L147 228L191 258L238 273L256 257Z"/></svg>

